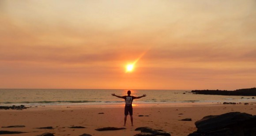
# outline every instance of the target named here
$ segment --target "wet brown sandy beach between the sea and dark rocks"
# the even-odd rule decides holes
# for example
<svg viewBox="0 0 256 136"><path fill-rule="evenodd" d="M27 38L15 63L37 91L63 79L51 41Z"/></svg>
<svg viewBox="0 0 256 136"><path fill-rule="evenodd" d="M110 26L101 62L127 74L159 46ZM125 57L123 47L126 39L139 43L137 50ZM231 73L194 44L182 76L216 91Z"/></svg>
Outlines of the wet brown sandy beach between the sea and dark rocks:
<svg viewBox="0 0 256 136"><path fill-rule="evenodd" d="M151 127L169 132L172 136L187 136L196 130L195 122L207 115L220 115L227 112L245 112L256 115L256 104L197 104L162 107L134 106L134 126L128 116L124 124L124 107L88 107L86 105L38 106L24 110L0 110L0 127L25 125L23 128L1 128L7 131L28 132L13 134L36 136L45 132L55 136L79 136L84 133L92 136L134 136L138 127ZM104 113L104 114L98 114ZM144 115L139 117L139 115ZM148 115L148 116L147 116ZM192 121L179 121L192 118ZM35 129L52 126L54 129ZM71 129L83 126L84 129ZM96 131L101 127L125 127L124 130ZM4 136L4 135L3 135ZM10 136L10 135L7 135Z"/></svg>

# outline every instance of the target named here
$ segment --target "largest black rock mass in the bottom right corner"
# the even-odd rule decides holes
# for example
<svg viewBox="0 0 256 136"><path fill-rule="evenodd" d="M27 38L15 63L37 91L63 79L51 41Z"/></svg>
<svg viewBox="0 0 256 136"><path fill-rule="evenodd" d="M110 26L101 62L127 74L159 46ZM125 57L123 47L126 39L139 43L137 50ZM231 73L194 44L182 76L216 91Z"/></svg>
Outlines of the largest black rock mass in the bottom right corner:
<svg viewBox="0 0 256 136"><path fill-rule="evenodd" d="M188 136L256 136L256 116L230 112L205 116L195 122L197 131Z"/></svg>

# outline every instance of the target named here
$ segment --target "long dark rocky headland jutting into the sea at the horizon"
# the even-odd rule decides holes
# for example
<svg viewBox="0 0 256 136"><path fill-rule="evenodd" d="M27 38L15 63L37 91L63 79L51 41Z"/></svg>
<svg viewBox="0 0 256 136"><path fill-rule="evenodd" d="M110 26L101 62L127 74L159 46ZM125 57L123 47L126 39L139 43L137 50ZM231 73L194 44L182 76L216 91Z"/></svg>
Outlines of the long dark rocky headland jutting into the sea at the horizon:
<svg viewBox="0 0 256 136"><path fill-rule="evenodd" d="M256 88L237 89L234 91L227 90L192 90L194 94L208 94L208 95L232 95L232 96L256 96Z"/></svg>

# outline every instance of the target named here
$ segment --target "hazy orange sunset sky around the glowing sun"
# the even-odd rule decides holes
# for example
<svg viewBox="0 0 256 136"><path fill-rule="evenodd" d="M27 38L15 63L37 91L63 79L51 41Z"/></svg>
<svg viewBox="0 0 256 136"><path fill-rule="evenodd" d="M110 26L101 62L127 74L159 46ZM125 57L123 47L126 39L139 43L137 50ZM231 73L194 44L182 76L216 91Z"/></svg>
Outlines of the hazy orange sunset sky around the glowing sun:
<svg viewBox="0 0 256 136"><path fill-rule="evenodd" d="M256 87L255 24L255 0L1 0L0 88Z"/></svg>

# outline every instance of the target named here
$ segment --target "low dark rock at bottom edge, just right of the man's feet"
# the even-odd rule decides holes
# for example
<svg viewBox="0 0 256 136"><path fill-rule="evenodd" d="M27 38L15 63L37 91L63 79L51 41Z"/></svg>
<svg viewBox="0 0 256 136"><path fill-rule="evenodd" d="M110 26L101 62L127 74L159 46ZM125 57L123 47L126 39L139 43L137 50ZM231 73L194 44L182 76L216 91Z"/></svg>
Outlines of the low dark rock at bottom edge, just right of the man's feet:
<svg viewBox="0 0 256 136"><path fill-rule="evenodd" d="M171 136L171 134L160 129L151 129L149 127L139 127L135 129L135 131L139 130L140 133L136 134L135 136Z"/></svg>

